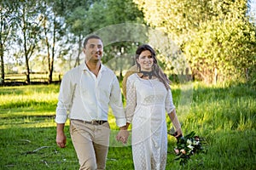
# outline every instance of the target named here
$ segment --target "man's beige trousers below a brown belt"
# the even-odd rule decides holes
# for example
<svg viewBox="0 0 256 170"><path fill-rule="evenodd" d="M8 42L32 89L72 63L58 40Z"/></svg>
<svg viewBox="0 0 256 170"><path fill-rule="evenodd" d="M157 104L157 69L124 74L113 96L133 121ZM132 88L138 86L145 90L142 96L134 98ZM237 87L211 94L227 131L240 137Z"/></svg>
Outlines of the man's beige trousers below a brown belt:
<svg viewBox="0 0 256 170"><path fill-rule="evenodd" d="M105 169L110 135L108 122L91 125L71 120L70 134L79 158L79 169Z"/></svg>

